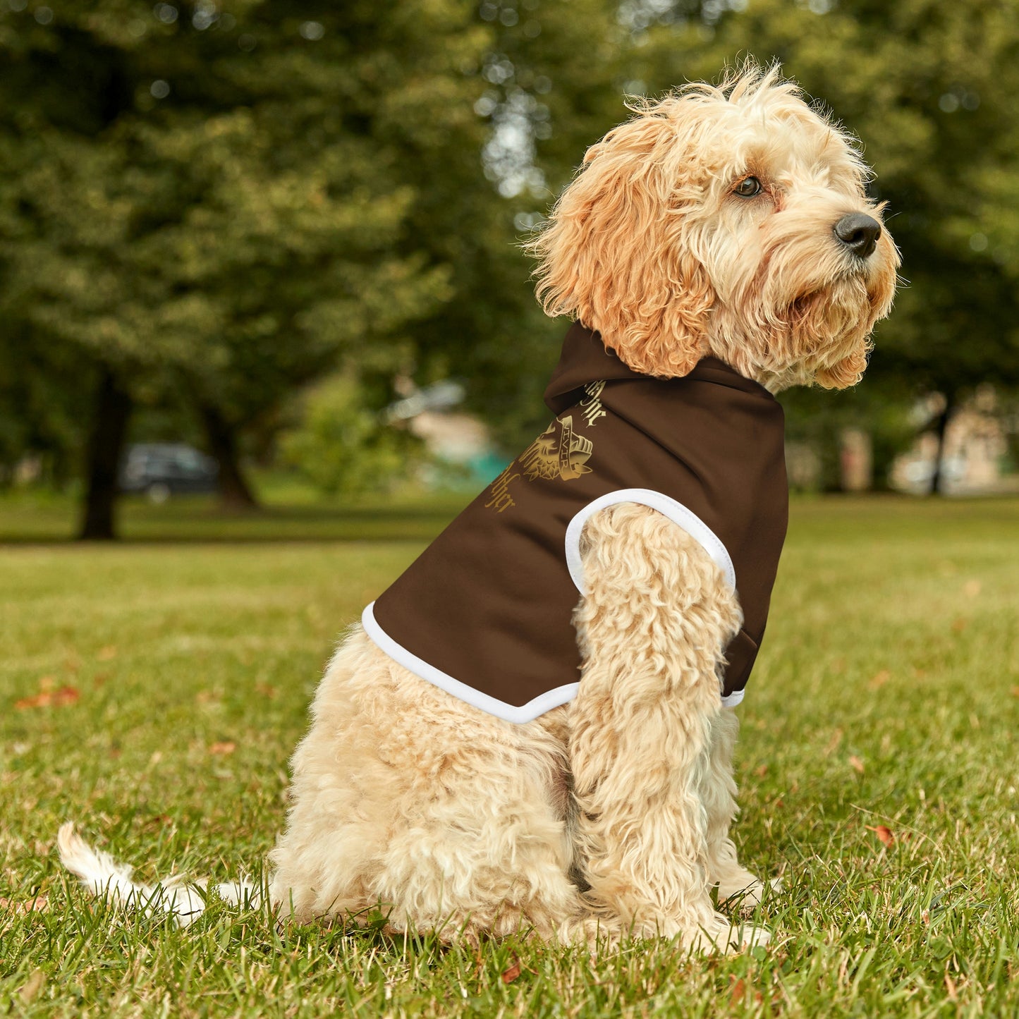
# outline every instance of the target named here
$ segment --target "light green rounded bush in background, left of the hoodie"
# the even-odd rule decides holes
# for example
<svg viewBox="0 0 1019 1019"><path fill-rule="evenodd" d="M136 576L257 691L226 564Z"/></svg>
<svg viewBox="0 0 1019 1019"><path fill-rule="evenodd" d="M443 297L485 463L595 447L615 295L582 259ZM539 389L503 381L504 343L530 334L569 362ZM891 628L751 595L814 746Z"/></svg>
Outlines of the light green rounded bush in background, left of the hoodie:
<svg viewBox="0 0 1019 1019"><path fill-rule="evenodd" d="M420 459L420 443L383 424L351 375L326 379L302 403L301 423L280 436L280 451L325 495L385 491Z"/></svg>

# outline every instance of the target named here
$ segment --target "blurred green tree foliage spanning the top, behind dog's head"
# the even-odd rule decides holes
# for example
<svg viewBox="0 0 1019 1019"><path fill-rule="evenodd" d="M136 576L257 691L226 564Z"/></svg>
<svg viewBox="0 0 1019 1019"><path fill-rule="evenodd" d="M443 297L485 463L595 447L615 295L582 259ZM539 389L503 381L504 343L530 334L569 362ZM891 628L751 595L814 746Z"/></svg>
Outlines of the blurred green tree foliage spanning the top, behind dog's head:
<svg viewBox="0 0 1019 1019"><path fill-rule="evenodd" d="M908 285L864 385L901 405L1019 385L1019 0L43 10L0 5L0 462L66 473L104 367L263 448L337 366L379 405L398 372L454 376L515 450L562 333L520 239L624 91L746 53L877 168Z"/></svg>

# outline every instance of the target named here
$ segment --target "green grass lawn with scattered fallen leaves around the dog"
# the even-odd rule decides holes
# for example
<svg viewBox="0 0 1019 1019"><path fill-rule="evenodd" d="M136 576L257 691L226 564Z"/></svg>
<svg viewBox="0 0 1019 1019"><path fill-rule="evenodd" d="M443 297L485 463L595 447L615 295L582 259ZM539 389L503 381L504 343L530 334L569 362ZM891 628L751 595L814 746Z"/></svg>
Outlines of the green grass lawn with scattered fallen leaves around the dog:
<svg viewBox="0 0 1019 1019"><path fill-rule="evenodd" d="M181 931L61 874L66 818L144 879L257 873L337 635L455 501L136 506L129 536L190 540L0 548L0 1014L1019 1015L1016 500L794 503L740 708L737 840L785 878L755 955L476 954L220 903ZM0 533L69 519L22 511L0 505Z"/></svg>

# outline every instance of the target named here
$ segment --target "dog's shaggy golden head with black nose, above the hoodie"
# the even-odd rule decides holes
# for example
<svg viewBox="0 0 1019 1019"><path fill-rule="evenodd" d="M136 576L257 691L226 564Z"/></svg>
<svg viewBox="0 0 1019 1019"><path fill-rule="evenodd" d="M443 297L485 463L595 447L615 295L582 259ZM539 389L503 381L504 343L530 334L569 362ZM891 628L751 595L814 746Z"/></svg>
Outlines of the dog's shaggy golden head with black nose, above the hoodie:
<svg viewBox="0 0 1019 1019"><path fill-rule="evenodd" d="M529 246L545 311L650 375L710 354L773 390L859 381L899 256L853 141L753 64L635 110Z"/></svg>

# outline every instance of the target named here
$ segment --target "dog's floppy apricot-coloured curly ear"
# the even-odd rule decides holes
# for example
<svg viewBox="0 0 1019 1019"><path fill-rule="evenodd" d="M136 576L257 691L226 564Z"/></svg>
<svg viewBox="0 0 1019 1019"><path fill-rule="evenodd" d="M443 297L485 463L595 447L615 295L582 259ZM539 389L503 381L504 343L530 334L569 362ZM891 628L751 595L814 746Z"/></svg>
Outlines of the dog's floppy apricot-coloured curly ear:
<svg viewBox="0 0 1019 1019"><path fill-rule="evenodd" d="M635 371L658 376L686 375L707 355L714 302L678 199L682 102L649 107L592 146L527 246L546 314L574 316Z"/></svg>

